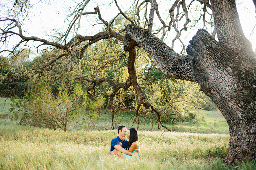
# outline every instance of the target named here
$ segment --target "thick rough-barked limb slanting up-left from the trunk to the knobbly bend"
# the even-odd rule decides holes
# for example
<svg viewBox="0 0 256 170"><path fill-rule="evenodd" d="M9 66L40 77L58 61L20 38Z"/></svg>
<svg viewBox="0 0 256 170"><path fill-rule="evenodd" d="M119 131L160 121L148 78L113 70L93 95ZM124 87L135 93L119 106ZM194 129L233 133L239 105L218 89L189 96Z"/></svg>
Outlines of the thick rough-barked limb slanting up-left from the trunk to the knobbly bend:
<svg viewBox="0 0 256 170"><path fill-rule="evenodd" d="M144 48L157 67L169 77L197 82L188 56L177 54L160 39L138 26L127 25L126 35Z"/></svg>

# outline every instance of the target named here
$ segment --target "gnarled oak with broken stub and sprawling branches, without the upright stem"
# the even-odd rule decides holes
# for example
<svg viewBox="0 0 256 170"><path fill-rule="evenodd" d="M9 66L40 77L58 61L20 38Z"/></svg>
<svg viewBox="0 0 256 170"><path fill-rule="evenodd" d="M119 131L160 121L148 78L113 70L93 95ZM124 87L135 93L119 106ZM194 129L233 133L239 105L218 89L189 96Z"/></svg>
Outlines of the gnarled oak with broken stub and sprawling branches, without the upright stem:
<svg viewBox="0 0 256 170"><path fill-rule="evenodd" d="M230 140L226 162L256 158L256 55L250 41L242 31L235 0L211 0L210 2L209 0L192 0L189 5L186 5L185 0L176 0L169 8L169 21L161 18L155 0L135 1L134 15L124 13L118 1L115 0L115 7L119 9L119 13L110 22L104 20L99 6L95 6L94 11L86 11L85 7L89 2L90 0L84 0L77 4L72 14L69 15L72 19L70 19L67 31L60 34L56 41L35 36L28 37L23 34L21 21L27 15L28 1L15 1L13 8L8 11L9 16L1 18L1 41L7 43L10 36L18 36L20 39L14 48L4 49L1 53L15 54L20 46L29 41L41 42L40 46L47 45L55 50L59 49L58 55L53 60L40 70L32 71L32 74L25 77L24 81L35 75L41 75L47 67L71 53L76 53L78 60L82 59L89 45L102 39L111 41L114 37L123 42L124 50L129 52L127 63L129 77L126 82L116 84L111 79L98 77L97 74L94 79L83 75L76 77L76 79L94 83L92 88L102 82L111 84L113 91L110 95L109 109L113 105L114 96L118 90L121 88L127 90L132 85L137 94L137 114L139 114L140 106L143 105L146 109L150 108L155 111L160 119L159 111L147 101L147 96L137 82L134 62L136 48L142 47L166 75L198 83L201 90L215 102L229 125ZM173 50L174 42L180 40L182 31L187 30L191 22L189 9L192 3L196 2L202 5L200 7L203 11L200 16L204 23L202 27L206 23L213 26L211 22L213 18L214 30L210 35L206 30L199 29L186 48L187 55L179 55ZM256 1L253 2L256 4ZM14 10L15 15L10 15ZM208 21L207 14L210 15ZM73 38L69 38L74 30L79 28L79 23L83 21L85 15L97 16L99 21L105 25L106 31L92 36L76 34ZM123 29L115 31L112 24L119 15L122 15L130 24L123 25ZM154 15L159 19L161 26L158 31L152 32ZM141 16L144 16L144 19ZM182 18L184 25L178 29L177 22ZM172 47L169 47L163 39L167 32L172 30L175 31L176 36L172 41ZM124 31L126 31L125 35L123 35ZM153 35L159 32L162 33L161 39ZM216 33L218 41L214 38ZM84 42L86 42L85 45L79 47ZM181 40L180 42L182 43Z"/></svg>

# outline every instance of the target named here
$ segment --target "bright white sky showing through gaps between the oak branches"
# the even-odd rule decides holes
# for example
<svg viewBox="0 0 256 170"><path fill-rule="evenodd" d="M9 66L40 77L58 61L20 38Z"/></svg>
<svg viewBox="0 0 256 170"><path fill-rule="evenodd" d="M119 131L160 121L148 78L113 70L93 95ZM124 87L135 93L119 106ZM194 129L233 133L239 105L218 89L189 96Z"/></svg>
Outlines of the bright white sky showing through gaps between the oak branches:
<svg viewBox="0 0 256 170"><path fill-rule="evenodd" d="M38 2L38 0L31 0L31 2L33 2L33 1ZM111 2L111 0L108 0L108 1ZM35 10L31 11L33 13L33 15L31 15L29 17L30 21L26 22L26 25L24 25L24 28L26 29L27 33L29 33L26 36L37 36L40 38L45 38L47 40L50 40L52 33L56 33L56 30L59 30L62 33L64 33L66 31L66 24L67 24L67 23L66 24L64 23L64 19L65 19L65 9L64 8L65 8L65 5L69 6L71 4L71 2L72 1L68 1L68 0L56 0L56 3L51 4L51 5L46 5L43 3L37 4L35 6L36 7ZM131 4L129 1L123 1L123 0L117 0L117 2L119 4L119 6L123 9L127 9L126 6L130 6L130 4ZM160 3L158 2L159 7L164 6L166 9L161 9L161 10L168 10L171 7L169 5L162 5L162 3L164 3L164 0L161 0ZM169 4L172 4L172 3L173 3L172 1L169 2ZM86 10L84 12L94 11L94 7L96 7L97 5L98 4L96 3L96 1L93 0L92 3L90 2L87 5ZM111 5L111 8L104 8L104 6L99 6L99 7L100 7L102 17L106 21L110 21L110 19L113 18L119 12L119 10L117 9L117 7L114 4L114 0L113 0L113 4ZM253 29L254 25L256 24L256 18L255 18L256 14L255 14L255 7L253 4L253 1L252 0L237 1L237 10L239 13L240 23L242 25L244 34L252 43L253 50L255 50L255 48L256 48L256 28L255 28L255 33L251 34L252 29ZM160 11L160 9L159 9L159 11ZM167 14L168 14L168 12L167 12ZM91 14L90 16L92 18L94 18L94 17L98 18L98 15L95 15L95 14ZM157 18L156 14L155 14L154 18L155 19ZM88 20L88 22L91 22L91 21ZM94 23L92 22L91 24L94 24ZM96 32L101 31L101 29L102 29L102 26L100 26L100 25L96 25L94 27L87 26L87 25L88 25L87 21L85 21L85 19L83 19L83 25L82 25L81 29L79 30L80 32L78 34L94 35ZM183 23L182 23L182 25L183 25ZM55 29L55 30L52 30L52 29ZM186 34L183 37L183 40L184 40L183 43L185 46L187 46L189 44L188 41L192 39L192 37L195 35L197 30L198 30L198 28L196 28L194 30L190 30L190 32L183 31L183 34L184 35ZM47 34L45 34L45 33L47 33ZM169 34L171 34L171 33L169 33ZM250 34L251 34L251 36L250 36ZM166 39L165 43L167 43L167 45L171 46L172 38L173 37L171 36L169 39ZM178 41L177 41L177 43L178 43ZM175 48L174 50L179 53L180 49L178 49L179 48L178 44L176 44L177 46L174 47Z"/></svg>

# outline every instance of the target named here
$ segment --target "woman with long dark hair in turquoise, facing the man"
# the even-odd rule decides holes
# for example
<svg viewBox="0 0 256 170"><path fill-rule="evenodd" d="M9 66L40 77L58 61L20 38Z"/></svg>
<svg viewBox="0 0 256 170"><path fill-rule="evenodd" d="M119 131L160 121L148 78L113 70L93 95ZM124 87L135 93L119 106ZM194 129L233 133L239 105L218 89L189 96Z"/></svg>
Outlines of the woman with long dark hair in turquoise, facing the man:
<svg viewBox="0 0 256 170"><path fill-rule="evenodd" d="M129 137L130 140L125 149L129 152L134 153L135 150L139 148L139 144L138 144L139 135L138 135L137 129L134 127L129 129L129 133L128 133L127 137ZM127 159L130 159L133 157L132 155L126 155L124 153L122 153L122 154L123 154L123 157L125 157Z"/></svg>

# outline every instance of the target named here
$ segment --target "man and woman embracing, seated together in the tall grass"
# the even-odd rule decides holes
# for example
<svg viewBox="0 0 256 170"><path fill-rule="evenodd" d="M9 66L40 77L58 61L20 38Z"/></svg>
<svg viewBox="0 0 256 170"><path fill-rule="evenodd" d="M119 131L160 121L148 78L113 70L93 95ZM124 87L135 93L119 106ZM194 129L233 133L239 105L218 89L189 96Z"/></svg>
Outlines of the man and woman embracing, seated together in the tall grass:
<svg viewBox="0 0 256 170"><path fill-rule="evenodd" d="M109 155L120 155L127 159L140 153L138 144L138 131L136 128L131 128L127 137L129 140L125 140L124 137L127 134L126 126L120 125L117 128L118 136L112 139Z"/></svg>

